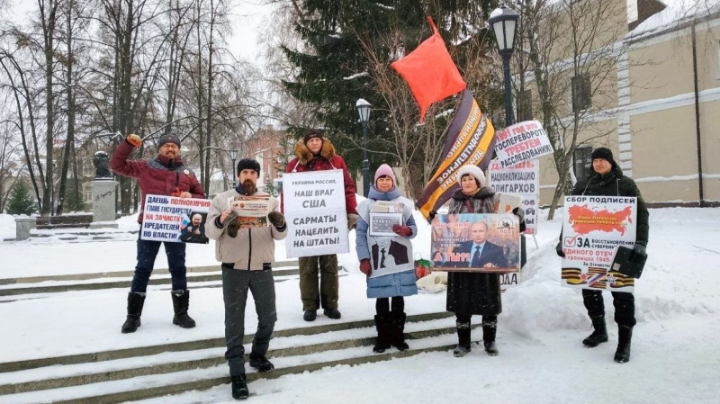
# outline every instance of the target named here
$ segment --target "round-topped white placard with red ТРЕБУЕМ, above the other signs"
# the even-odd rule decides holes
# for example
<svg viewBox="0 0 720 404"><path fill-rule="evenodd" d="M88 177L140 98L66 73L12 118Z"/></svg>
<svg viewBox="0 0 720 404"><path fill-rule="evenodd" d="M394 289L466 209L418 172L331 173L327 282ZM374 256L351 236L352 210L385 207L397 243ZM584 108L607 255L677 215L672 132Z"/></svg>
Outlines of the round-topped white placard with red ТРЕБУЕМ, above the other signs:
<svg viewBox="0 0 720 404"><path fill-rule="evenodd" d="M501 167L516 166L527 160L553 153L553 146L539 121L524 121L497 133L495 153Z"/></svg>

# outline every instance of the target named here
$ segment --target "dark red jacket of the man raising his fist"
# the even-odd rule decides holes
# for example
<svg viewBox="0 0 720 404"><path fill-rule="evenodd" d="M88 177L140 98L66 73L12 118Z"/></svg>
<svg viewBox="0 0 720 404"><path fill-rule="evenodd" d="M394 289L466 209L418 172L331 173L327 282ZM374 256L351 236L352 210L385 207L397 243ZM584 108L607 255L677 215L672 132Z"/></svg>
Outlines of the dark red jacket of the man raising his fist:
<svg viewBox="0 0 720 404"><path fill-rule="evenodd" d="M139 223L145 210L145 195L171 196L173 193L188 192L193 194L193 198L205 197L195 173L185 168L180 157L170 160L158 155L152 160L128 160L133 149L127 140L121 142L112 153L110 168L116 174L138 179L141 193Z"/></svg>

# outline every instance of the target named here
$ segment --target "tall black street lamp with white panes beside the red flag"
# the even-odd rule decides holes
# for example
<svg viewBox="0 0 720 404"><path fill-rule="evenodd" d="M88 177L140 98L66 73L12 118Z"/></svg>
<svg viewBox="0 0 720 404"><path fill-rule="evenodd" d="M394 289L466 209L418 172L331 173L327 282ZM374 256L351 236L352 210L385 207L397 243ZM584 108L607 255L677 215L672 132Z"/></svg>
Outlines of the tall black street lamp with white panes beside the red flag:
<svg viewBox="0 0 720 404"><path fill-rule="evenodd" d="M515 50L515 31L518 27L520 15L508 7L496 8L491 14L488 23L495 32L498 40L498 52L502 58L502 72L505 78L505 126L514 123L512 113L512 92L510 87L510 58Z"/></svg>

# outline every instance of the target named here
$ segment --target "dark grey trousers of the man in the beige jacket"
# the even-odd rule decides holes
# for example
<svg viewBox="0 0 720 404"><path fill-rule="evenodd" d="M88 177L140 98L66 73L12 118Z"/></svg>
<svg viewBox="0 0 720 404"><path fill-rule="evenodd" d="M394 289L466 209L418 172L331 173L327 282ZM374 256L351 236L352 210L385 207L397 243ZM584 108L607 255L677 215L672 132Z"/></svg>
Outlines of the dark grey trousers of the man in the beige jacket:
<svg viewBox="0 0 720 404"><path fill-rule="evenodd" d="M266 355L270 337L275 329L275 281L273 271L247 271L222 268L222 300L225 302L225 344L228 350L230 376L245 374L245 303L247 291L252 292L257 312L257 331L253 338L252 353Z"/></svg>

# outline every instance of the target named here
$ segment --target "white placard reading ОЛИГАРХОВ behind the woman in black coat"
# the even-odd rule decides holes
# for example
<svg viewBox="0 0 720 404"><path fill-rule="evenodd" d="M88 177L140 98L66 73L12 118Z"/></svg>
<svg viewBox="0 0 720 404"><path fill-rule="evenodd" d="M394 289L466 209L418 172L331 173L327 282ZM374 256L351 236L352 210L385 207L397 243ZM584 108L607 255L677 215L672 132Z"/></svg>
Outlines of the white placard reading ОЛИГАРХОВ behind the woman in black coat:
<svg viewBox="0 0 720 404"><path fill-rule="evenodd" d="M500 161L492 160L489 171L491 188L496 193L514 193L522 197L525 211L525 234L537 233L537 207L540 201L540 163L524 161L516 166L502 167Z"/></svg>

